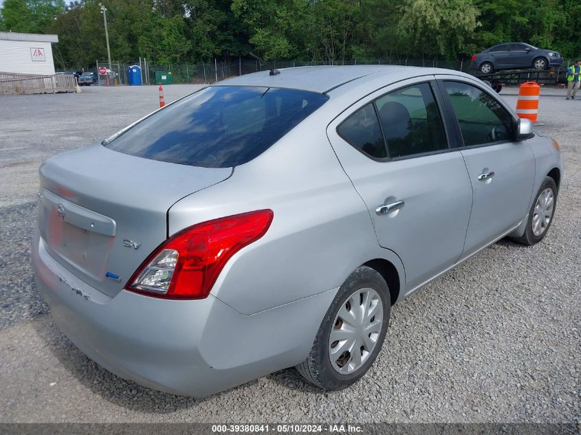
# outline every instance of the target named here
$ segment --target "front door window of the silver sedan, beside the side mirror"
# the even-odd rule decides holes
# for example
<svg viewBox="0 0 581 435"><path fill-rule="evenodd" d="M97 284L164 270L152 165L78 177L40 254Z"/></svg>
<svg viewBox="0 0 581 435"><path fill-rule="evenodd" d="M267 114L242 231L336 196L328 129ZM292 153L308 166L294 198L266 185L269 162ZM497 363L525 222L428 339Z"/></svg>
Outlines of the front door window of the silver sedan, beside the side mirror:
<svg viewBox="0 0 581 435"><path fill-rule="evenodd" d="M461 82L443 82L464 146L510 140L512 115L485 91Z"/></svg>

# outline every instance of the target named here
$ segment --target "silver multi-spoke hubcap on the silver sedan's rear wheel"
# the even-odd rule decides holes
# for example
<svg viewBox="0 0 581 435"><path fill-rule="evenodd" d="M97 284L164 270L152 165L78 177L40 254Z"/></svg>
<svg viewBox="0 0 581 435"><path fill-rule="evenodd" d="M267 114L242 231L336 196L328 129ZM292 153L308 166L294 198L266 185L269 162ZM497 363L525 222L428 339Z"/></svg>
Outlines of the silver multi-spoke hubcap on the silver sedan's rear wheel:
<svg viewBox="0 0 581 435"><path fill-rule="evenodd" d="M369 358L380 337L383 305L373 289L359 289L342 304L329 335L329 359L333 368L347 375Z"/></svg>

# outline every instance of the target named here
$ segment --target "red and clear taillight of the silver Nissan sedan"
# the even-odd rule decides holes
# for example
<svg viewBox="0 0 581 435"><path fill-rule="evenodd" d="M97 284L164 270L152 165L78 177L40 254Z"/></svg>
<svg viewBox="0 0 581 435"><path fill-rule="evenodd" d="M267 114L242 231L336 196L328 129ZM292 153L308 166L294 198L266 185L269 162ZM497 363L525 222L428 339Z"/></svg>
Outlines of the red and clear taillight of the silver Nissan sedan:
<svg viewBox="0 0 581 435"><path fill-rule="evenodd" d="M198 223L164 242L127 282L127 290L167 299L204 299L228 260L261 238L272 210Z"/></svg>

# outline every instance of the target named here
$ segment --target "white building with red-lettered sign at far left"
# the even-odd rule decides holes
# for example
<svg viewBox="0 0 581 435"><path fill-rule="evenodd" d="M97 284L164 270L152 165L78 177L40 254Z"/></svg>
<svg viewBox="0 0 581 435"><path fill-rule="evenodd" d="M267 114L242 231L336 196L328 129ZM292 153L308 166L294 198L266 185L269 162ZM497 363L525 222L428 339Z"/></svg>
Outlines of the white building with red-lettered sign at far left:
<svg viewBox="0 0 581 435"><path fill-rule="evenodd" d="M0 72L54 74L51 43L57 35L0 32Z"/></svg>

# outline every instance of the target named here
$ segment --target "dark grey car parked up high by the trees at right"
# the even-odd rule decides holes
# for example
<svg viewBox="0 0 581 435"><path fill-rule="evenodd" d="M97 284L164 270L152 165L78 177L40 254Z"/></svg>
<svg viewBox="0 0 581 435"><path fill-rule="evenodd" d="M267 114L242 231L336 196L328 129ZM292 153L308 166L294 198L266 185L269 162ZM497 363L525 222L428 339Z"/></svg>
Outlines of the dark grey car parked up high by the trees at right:
<svg viewBox="0 0 581 435"><path fill-rule="evenodd" d="M525 43L505 43L474 54L470 68L489 74L498 69L547 69L558 67L562 63L563 58L557 52Z"/></svg>

